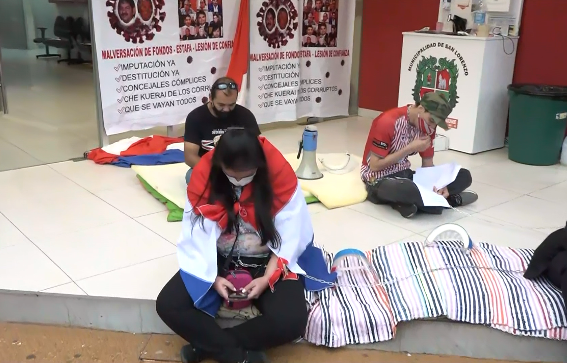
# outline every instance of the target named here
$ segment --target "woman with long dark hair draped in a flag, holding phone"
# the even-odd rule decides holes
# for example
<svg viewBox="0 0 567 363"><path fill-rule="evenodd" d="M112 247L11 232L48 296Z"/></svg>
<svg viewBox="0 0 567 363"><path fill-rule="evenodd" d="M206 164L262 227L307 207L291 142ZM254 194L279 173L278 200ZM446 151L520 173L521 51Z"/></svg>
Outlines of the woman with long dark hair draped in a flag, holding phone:
<svg viewBox="0 0 567 363"><path fill-rule="evenodd" d="M297 177L264 137L228 129L195 166L178 243L179 272L160 292L161 319L189 343L183 362L264 362L263 351L300 338L304 290L332 285ZM221 304L261 312L229 329Z"/></svg>

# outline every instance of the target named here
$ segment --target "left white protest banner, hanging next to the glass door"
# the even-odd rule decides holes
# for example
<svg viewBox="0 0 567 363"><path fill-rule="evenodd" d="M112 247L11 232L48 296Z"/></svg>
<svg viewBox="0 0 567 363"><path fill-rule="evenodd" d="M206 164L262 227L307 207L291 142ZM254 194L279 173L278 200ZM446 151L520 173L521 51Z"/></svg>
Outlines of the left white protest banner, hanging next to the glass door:
<svg viewBox="0 0 567 363"><path fill-rule="evenodd" d="M240 0L92 1L108 135L185 121L228 69Z"/></svg>

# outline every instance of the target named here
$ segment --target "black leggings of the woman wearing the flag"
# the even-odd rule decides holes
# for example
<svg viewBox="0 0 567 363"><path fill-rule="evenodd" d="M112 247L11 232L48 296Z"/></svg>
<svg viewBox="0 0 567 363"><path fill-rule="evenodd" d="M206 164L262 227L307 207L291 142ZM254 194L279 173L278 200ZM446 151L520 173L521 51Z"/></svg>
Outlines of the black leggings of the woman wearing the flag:
<svg viewBox="0 0 567 363"><path fill-rule="evenodd" d="M213 317L193 306L177 272L159 293L156 310L171 330L219 362L236 362L246 350L277 347L305 333L308 312L301 280L280 280L273 293L268 287L253 303L261 316L222 329Z"/></svg>

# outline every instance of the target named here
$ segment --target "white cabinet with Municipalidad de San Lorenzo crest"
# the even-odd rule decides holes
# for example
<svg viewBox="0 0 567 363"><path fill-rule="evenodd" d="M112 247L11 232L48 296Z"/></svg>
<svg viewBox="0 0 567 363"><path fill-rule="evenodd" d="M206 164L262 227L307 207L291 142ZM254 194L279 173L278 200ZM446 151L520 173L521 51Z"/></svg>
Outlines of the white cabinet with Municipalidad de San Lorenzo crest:
<svg viewBox="0 0 567 363"><path fill-rule="evenodd" d="M449 149L476 154L503 147L518 38L403 35L398 106L441 93L453 106L449 131L437 128ZM513 50L507 45L505 52L504 41Z"/></svg>

